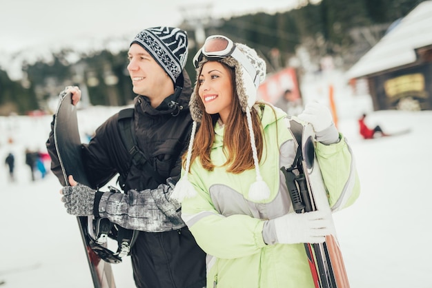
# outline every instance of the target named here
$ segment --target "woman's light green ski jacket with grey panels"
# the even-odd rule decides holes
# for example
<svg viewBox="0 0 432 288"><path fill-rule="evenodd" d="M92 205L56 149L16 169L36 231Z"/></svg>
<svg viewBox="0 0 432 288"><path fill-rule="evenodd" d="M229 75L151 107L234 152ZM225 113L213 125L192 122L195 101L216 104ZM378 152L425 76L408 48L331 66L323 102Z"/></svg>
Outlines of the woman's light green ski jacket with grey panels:
<svg viewBox="0 0 432 288"><path fill-rule="evenodd" d="M296 150L282 110L273 112L266 105L259 114L265 136L259 167L271 196L259 203L248 199L255 169L232 174L226 167L215 167L208 172L195 159L188 180L197 193L182 201L182 218L207 253L208 288L313 288L304 245L266 245L263 240L266 220L294 213L279 168L291 167ZM224 127L217 124L215 134L211 159L218 166L226 161ZM317 143L316 154L332 210L351 205L360 184L344 137L340 134L340 142L331 145Z"/></svg>

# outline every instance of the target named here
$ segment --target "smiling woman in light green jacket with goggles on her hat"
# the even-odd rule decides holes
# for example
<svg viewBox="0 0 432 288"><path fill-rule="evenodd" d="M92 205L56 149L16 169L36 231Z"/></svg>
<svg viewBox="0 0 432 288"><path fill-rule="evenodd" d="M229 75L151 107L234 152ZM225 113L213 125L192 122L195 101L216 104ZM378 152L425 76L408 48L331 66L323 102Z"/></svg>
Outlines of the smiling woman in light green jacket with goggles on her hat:
<svg viewBox="0 0 432 288"><path fill-rule="evenodd" d="M193 132L173 197L207 253L207 287L314 287L301 243L324 242L328 215L292 211L279 171L295 156L286 114L255 103L264 61L246 45L215 35L194 65ZM332 209L351 205L360 189L357 174L330 112L313 103L299 117L322 141L317 156Z"/></svg>

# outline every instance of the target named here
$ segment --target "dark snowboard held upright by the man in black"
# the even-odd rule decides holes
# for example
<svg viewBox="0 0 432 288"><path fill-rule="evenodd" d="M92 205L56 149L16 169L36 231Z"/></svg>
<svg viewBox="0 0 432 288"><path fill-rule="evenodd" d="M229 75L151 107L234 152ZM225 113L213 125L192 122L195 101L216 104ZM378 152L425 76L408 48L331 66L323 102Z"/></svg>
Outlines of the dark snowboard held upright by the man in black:
<svg viewBox="0 0 432 288"><path fill-rule="evenodd" d="M72 105L71 93L59 100L55 114L54 139L66 183L69 184L68 176L72 175L77 182L88 185L84 166L81 162L81 138L77 121L77 107ZM94 287L115 288L110 263L99 256L103 249L100 249L99 245L95 245L95 241L90 237L92 228L89 229L89 227L92 227L92 217L78 216L77 221ZM99 254L95 252L95 249L99 249Z"/></svg>

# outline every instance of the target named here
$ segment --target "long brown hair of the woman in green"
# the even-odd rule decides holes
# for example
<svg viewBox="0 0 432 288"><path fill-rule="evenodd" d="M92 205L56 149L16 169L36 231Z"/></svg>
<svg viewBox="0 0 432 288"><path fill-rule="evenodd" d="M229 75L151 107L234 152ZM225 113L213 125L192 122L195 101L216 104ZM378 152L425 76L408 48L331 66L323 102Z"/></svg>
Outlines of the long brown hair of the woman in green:
<svg viewBox="0 0 432 288"><path fill-rule="evenodd" d="M231 105L230 116L225 124L224 132L224 153L226 154L226 163L223 166L228 166L227 172L239 174L247 169L253 169L253 152L251 147L251 136L248 130L248 122L246 112L242 111L242 107L235 88L235 73L234 68L230 68L225 63L231 75L231 83L233 85L233 105ZM200 68L202 70L202 67ZM199 81L195 85L195 94L198 95ZM197 129L195 141L193 143L193 150L190 158L190 163L193 163L195 158L199 156L204 169L213 171L215 165L210 158L211 148L215 141L215 124L219 119L219 114L210 115L206 113L204 103L201 97L197 96L199 109L203 112L202 122ZM251 119L253 134L255 136L255 145L257 147L257 156L259 161L262 158L264 137L262 134L262 125L258 113L254 108L251 108ZM184 158L185 159L185 158Z"/></svg>

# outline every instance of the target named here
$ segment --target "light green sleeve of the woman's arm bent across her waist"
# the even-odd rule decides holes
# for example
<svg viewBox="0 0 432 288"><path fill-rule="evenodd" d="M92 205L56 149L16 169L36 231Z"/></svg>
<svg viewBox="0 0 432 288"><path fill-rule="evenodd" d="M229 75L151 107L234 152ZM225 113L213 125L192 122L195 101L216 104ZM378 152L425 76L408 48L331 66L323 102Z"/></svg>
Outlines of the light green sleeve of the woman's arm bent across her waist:
<svg viewBox="0 0 432 288"><path fill-rule="evenodd" d="M188 174L197 195L181 202L181 218L199 247L217 258L239 258L258 253L266 246L262 238L264 221L247 215L223 216L217 212L204 185Z"/></svg>

